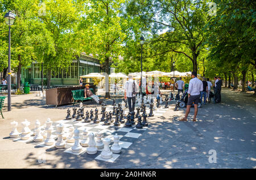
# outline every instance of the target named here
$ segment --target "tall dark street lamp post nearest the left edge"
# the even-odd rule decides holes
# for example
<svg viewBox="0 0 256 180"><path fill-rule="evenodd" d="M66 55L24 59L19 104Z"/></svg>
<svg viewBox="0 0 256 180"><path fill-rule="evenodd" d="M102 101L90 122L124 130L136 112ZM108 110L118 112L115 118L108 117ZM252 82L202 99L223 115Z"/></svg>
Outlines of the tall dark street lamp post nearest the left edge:
<svg viewBox="0 0 256 180"><path fill-rule="evenodd" d="M8 51L8 111L11 111L11 25L13 25L15 14L11 11L5 14L5 22L9 25L9 51Z"/></svg>

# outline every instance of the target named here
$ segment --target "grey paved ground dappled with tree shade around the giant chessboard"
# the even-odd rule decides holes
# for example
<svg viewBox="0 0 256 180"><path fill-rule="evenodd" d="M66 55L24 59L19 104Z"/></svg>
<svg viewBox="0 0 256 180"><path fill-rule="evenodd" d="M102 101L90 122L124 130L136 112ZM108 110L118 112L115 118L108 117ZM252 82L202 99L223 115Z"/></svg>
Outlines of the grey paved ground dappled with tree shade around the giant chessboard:
<svg viewBox="0 0 256 180"><path fill-rule="evenodd" d="M222 90L221 104L199 109L198 122L179 122L185 109L174 112L174 104L161 117L148 119L150 126L114 162L88 160L59 151L47 151L46 163L39 164L39 149L32 144L8 139L10 122L47 118L58 121L72 105L46 106L36 94L13 96L13 110L0 119L0 168L256 168L256 99L249 93ZM119 100L120 101L120 100ZM110 104L112 101L109 100ZM95 107L85 102L86 108ZM32 127L31 126L31 127ZM209 151L217 163L209 163Z"/></svg>

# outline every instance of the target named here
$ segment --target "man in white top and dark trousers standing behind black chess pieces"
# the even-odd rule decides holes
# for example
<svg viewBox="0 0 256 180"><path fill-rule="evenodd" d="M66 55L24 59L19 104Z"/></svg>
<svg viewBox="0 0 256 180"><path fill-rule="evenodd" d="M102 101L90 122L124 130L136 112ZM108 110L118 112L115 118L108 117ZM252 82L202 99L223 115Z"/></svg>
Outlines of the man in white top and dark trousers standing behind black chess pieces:
<svg viewBox="0 0 256 180"><path fill-rule="evenodd" d="M134 112L135 101L136 101L136 93L138 91L138 85L133 80L133 76L129 75L129 80L125 82L125 99L128 100L129 112Z"/></svg>

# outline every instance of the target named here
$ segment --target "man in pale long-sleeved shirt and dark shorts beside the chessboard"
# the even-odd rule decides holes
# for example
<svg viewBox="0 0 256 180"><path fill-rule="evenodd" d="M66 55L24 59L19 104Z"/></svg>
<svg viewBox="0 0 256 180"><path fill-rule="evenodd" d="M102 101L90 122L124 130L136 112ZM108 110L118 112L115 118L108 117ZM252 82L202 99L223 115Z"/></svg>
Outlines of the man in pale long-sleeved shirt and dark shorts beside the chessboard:
<svg viewBox="0 0 256 180"><path fill-rule="evenodd" d="M197 79L196 75L197 75L196 71L193 71L191 73L192 79L189 81L189 86L188 86L187 110L186 110L185 117L180 119L180 121L187 121L187 117L190 112L191 105L194 103L195 113L194 113L193 122L196 122L196 115L198 111L197 104L200 102L200 91L203 91L203 83L201 82L201 80Z"/></svg>

